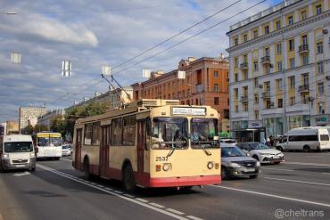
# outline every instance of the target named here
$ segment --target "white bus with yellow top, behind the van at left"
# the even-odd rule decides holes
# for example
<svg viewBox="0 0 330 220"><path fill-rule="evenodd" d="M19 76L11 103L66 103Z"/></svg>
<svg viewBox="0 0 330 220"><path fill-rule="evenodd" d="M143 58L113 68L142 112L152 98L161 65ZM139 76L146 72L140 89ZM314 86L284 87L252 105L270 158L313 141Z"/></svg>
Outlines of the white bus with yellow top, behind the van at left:
<svg viewBox="0 0 330 220"><path fill-rule="evenodd" d="M62 134L40 132L32 135L33 143L37 147L37 159L60 159L62 157Z"/></svg>

